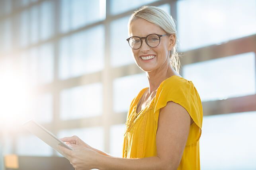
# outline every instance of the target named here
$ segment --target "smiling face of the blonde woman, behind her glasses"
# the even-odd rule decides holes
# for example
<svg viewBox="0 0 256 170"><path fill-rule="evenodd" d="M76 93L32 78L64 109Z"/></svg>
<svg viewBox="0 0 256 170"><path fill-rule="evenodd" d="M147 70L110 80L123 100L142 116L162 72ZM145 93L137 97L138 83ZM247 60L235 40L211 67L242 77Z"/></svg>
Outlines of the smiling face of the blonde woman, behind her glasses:
<svg viewBox="0 0 256 170"><path fill-rule="evenodd" d="M149 34L166 34L160 27L146 21L145 19L135 19L130 24L130 36L146 37ZM161 67L169 65L169 51L175 45L175 35L162 36L160 44L154 48L147 45L145 38L143 39L141 48L133 50L133 56L136 64L143 71L155 71ZM146 59L150 57L152 59Z"/></svg>

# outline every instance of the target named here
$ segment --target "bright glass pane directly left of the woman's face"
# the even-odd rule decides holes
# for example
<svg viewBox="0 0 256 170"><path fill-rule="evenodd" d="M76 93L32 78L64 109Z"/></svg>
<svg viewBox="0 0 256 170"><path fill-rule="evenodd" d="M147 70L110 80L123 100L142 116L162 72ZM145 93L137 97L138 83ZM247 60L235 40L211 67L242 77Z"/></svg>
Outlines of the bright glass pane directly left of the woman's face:
<svg viewBox="0 0 256 170"><path fill-rule="evenodd" d="M128 20L129 17L124 17L110 23L110 56L114 67L134 63L131 48L126 41Z"/></svg>

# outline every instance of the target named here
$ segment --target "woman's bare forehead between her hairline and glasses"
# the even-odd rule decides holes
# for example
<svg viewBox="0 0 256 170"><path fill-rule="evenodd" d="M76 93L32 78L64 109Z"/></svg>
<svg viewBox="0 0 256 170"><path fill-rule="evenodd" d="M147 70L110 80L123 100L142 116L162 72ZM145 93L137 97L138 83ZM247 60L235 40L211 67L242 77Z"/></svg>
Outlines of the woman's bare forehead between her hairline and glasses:
<svg viewBox="0 0 256 170"><path fill-rule="evenodd" d="M147 36L149 34L164 34L164 30L145 19L139 18L131 22L128 33L129 36Z"/></svg>

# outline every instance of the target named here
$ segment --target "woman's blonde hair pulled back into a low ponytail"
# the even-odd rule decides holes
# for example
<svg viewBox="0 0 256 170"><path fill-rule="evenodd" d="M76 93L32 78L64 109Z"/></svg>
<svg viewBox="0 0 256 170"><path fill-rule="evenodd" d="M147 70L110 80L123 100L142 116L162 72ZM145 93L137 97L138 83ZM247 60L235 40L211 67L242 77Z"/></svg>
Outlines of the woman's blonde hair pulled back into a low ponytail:
<svg viewBox="0 0 256 170"><path fill-rule="evenodd" d="M170 51L170 63L172 67L179 73L180 72L180 59L177 53L177 31L176 23L172 16L164 10L155 6L143 6L136 10L131 15L128 22L128 30L130 30L131 22L135 19L145 19L154 25L162 28L168 34L175 34L175 46Z"/></svg>

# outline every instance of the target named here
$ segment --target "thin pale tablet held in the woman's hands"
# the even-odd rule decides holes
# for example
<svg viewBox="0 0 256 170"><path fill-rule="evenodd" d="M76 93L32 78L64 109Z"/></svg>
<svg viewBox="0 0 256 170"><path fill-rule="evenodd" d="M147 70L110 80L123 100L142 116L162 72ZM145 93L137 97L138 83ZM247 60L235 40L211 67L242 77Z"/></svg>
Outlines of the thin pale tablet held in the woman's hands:
<svg viewBox="0 0 256 170"><path fill-rule="evenodd" d="M63 141L58 139L56 136L54 136L51 132L49 132L47 129L45 129L43 126L35 122L34 120L29 120L23 124L23 127L27 129L31 134L34 134L39 139L47 143L49 146L51 146L53 149L55 149L57 152L59 152L61 155L65 157L63 152L58 149L58 145L61 145L67 149L73 150L71 147L66 145Z"/></svg>

